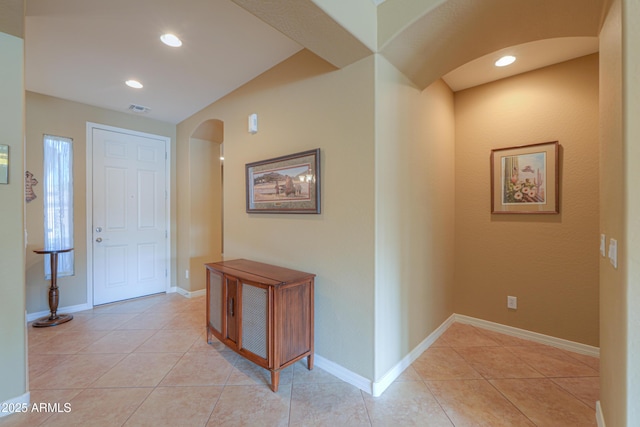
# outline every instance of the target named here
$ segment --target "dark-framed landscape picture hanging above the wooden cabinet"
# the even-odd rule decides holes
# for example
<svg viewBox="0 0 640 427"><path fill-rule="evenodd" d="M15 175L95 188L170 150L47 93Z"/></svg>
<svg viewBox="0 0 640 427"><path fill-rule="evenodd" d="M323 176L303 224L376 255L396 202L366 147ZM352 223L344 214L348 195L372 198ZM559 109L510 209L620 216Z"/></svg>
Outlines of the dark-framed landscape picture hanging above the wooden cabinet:
<svg viewBox="0 0 640 427"><path fill-rule="evenodd" d="M320 149L246 165L248 213L320 213Z"/></svg>

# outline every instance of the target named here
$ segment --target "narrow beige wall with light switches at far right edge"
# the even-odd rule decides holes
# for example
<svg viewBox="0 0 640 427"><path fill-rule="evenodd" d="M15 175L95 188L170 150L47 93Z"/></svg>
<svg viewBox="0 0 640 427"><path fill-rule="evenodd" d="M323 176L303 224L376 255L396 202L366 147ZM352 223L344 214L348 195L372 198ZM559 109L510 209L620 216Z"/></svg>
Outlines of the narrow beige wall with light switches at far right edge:
<svg viewBox="0 0 640 427"><path fill-rule="evenodd" d="M623 49L624 40L638 40L632 36L640 25L633 3L613 1L600 34L600 232L619 244L617 269L607 259L600 261L600 403L607 426L640 422L640 242L635 237L640 217L635 185L640 61L637 45Z"/></svg>

